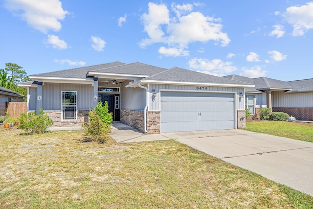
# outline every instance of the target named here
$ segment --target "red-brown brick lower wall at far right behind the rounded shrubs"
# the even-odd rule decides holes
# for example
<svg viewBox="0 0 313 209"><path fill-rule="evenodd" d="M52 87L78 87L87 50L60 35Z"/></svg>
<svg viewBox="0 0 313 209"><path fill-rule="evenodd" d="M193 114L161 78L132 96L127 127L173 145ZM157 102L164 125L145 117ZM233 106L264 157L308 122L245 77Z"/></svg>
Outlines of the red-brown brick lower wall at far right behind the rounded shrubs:
<svg viewBox="0 0 313 209"><path fill-rule="evenodd" d="M284 112L290 116L294 116L296 120L312 120L313 121L313 108L312 107L273 107L273 112Z"/></svg>

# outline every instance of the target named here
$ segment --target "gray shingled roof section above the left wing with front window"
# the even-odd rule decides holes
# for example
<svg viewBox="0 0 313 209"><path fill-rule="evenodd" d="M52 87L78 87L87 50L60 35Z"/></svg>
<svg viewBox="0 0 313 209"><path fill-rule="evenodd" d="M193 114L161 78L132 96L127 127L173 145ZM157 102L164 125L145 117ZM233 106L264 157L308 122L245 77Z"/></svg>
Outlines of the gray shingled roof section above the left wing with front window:
<svg viewBox="0 0 313 209"><path fill-rule="evenodd" d="M53 72L45 72L45 73L39 73L39 74L33 74L30 76L36 76L36 77L56 77L56 78L86 78L88 71L95 71L95 70L101 70L105 68L111 68L114 66L120 66L125 65L125 63L121 62L112 62L112 63L106 63L101 65L93 65L93 66L87 66L82 68L74 68L74 69L68 69L68 70L58 70Z"/></svg>

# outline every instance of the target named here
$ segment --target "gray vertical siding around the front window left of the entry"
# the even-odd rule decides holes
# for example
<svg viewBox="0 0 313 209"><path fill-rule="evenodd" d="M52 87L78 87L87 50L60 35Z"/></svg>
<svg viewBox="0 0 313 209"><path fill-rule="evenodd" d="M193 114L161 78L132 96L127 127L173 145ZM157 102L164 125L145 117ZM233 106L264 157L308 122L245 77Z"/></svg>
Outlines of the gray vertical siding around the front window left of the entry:
<svg viewBox="0 0 313 209"><path fill-rule="evenodd" d="M43 85L43 109L61 110L62 91L77 92L77 110L93 109L93 87L91 85L66 83L45 83Z"/></svg>

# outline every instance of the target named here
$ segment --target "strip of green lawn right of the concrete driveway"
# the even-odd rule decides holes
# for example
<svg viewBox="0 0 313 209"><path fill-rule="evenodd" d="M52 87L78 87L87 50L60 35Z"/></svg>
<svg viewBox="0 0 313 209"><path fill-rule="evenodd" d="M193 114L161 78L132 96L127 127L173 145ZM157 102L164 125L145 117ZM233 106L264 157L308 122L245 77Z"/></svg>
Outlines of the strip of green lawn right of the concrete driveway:
<svg viewBox="0 0 313 209"><path fill-rule="evenodd" d="M313 142L313 123L266 120L246 122L246 130Z"/></svg>

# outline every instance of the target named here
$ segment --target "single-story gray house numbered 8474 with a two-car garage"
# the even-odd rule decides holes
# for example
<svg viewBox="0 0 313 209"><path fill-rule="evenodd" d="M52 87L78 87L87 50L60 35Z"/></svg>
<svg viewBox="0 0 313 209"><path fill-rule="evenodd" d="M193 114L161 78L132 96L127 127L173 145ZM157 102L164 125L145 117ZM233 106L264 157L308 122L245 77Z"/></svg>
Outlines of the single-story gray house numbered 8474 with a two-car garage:
<svg viewBox="0 0 313 209"><path fill-rule="evenodd" d="M180 68L107 63L31 75L28 111L54 126L79 126L99 101L115 121L146 133L245 127L245 88L254 85Z"/></svg>

